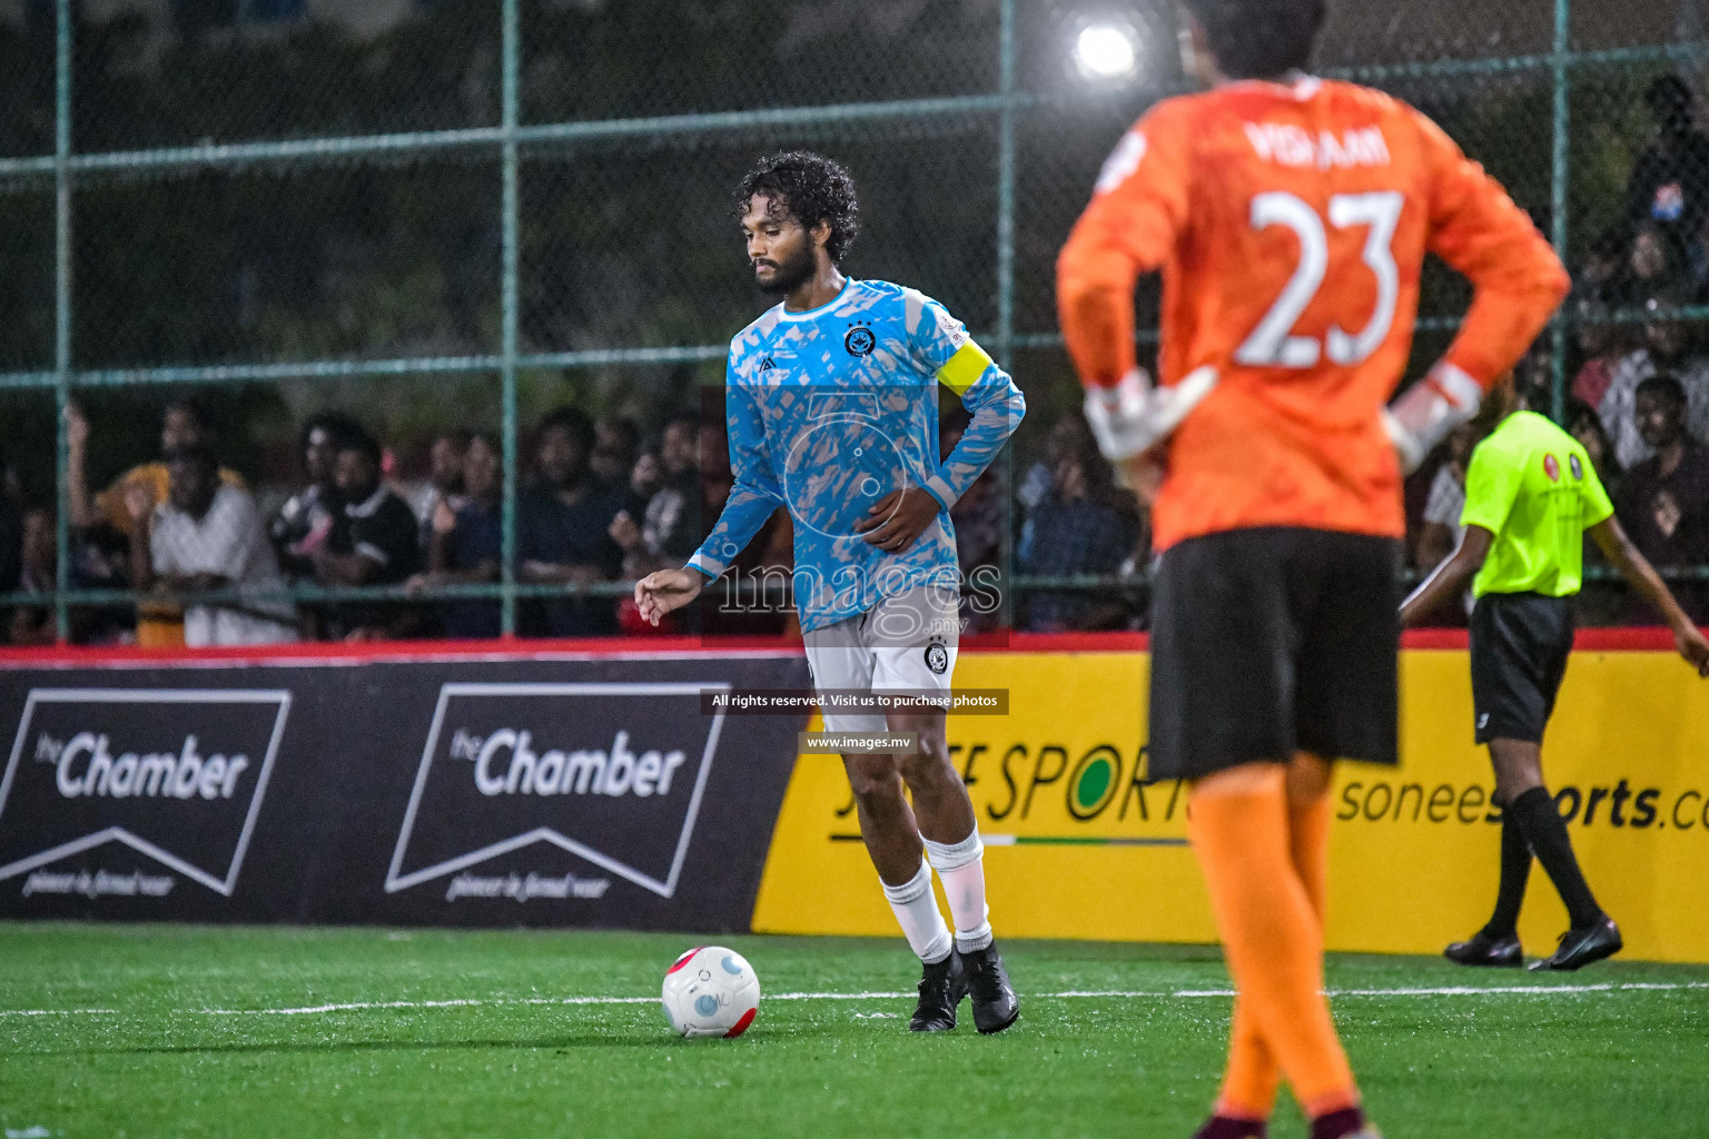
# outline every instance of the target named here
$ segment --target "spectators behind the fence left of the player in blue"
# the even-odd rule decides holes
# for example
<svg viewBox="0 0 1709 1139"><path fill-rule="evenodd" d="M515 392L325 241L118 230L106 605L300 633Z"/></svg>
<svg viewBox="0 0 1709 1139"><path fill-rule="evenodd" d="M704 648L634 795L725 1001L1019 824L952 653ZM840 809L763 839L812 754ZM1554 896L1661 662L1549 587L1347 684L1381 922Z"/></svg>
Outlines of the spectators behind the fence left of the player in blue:
<svg viewBox="0 0 1709 1139"><path fill-rule="evenodd" d="M73 405L70 584L135 591L138 599L75 606L73 642L202 647L501 632L494 591L468 589L494 586L502 572L504 459L490 434L441 434L426 447L424 476L407 482L361 423L314 415L297 437L301 485L273 495L256 494L220 463L219 441L193 400L164 406L156 461L97 492L87 480L89 434ZM646 437L631 420L593 422L566 406L537 425L525 449L531 461L523 463L514 512L518 632L639 632L625 591L610 586L680 565L701 543L731 485L723 423L678 415ZM721 470L704 470L706 458ZM767 534L749 565L786 552L786 524L774 521ZM0 615L14 645L56 639L56 555L55 505L26 500L17 480L7 480L0 594L21 596ZM320 599L326 589L345 594ZM697 620L678 615L673 632ZM718 625L716 615L709 620ZM783 632L784 618L781 606L750 606L731 625L728 632Z"/></svg>

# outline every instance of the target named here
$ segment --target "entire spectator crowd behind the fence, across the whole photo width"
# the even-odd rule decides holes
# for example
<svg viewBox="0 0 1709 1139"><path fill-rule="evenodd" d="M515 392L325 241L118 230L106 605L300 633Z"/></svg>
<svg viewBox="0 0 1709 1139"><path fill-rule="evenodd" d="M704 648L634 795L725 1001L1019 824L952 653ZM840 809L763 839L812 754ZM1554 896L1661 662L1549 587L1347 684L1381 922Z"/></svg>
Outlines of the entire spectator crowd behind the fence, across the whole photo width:
<svg viewBox="0 0 1709 1139"><path fill-rule="evenodd" d="M1622 217L1576 265L1565 427L1606 483L1639 550L1677 570L1677 594L1709 622L1709 342L1692 319L1709 301L1709 135L1690 87L1663 75L1646 92L1654 133L1634 164ZM1518 369L1524 403L1548 412L1555 362ZM966 417L942 418L954 447ZM424 449L424 475L402 480L391 451L338 413L297 437L299 485L256 494L222 464L191 400L166 405L159 458L91 492L89 423L67 422L68 577L75 587L133 589L135 605L77 606L79 642L138 645L277 644L407 637L484 639L501 632L504 456L485 432L451 430ZM1031 442L1031 446L1029 446ZM1427 572L1459 541L1465 478L1478 439L1454 434L1408 485L1408 546ZM682 565L730 494L718 415L677 415L656 432L624 417L564 406L526 434L514 500L518 632L590 637L643 632L624 582ZM1005 622L1037 632L1142 628L1150 534L1138 497L1118 485L1084 418L1068 413L1019 442L955 504L952 521L971 632ZM1005 541L1025 591L1001 581ZM735 582L788 581L790 521L767 524ZM46 594L58 574L56 516L17 480L0 485L0 606L15 645L53 644ZM1600 555L1588 548L1594 565ZM291 591L289 586L309 589ZM318 589L355 589L318 599ZM788 598L718 594L673 615L668 632L781 634ZM292 599L296 596L296 599ZM39 601L38 601L39 598ZM1588 620L1642 620L1613 594ZM764 599L764 601L762 601ZM1600 606L1600 608L1598 608ZM651 632L651 630L648 630Z"/></svg>

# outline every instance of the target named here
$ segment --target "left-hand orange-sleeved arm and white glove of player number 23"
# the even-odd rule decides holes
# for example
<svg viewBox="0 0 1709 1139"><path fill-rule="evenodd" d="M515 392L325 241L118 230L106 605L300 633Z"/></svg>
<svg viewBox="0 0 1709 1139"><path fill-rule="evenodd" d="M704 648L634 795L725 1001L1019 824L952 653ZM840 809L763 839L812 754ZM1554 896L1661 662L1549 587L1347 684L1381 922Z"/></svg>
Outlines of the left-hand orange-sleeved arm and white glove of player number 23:
<svg viewBox="0 0 1709 1139"><path fill-rule="evenodd" d="M1133 287L1164 266L1188 224L1189 135L1178 102L1123 135L1056 261L1063 340L1087 389L1087 422L1113 461L1162 442L1217 381L1200 369L1154 389L1133 347Z"/></svg>

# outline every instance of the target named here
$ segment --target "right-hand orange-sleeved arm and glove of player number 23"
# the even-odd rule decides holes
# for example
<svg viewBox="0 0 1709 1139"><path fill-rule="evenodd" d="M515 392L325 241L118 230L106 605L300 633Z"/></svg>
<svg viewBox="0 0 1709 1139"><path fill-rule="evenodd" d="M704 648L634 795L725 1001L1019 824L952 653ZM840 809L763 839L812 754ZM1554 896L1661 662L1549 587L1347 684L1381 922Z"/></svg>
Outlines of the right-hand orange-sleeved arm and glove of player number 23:
<svg viewBox="0 0 1709 1139"><path fill-rule="evenodd" d="M1448 353L1389 408L1389 437L1407 471L1519 362L1572 280L1524 210L1453 138L1412 111L1429 179L1429 249L1471 282L1471 307Z"/></svg>

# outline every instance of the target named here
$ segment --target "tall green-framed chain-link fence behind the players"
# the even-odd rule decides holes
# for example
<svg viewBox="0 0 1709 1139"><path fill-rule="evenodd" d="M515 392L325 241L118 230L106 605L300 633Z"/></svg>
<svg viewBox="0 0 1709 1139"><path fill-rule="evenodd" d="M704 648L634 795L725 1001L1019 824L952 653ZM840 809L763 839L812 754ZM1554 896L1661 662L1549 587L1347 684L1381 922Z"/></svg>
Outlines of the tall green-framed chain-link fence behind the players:
<svg viewBox="0 0 1709 1139"><path fill-rule="evenodd" d="M1118 77L1080 58L1099 27L1133 51ZM1564 418L1605 340L1579 333L1636 343L1658 319L1627 280L1647 208L1629 183L1658 137L1651 85L1706 92L1706 63L1697 0L1331 0L1318 70L1437 118L1576 272L1618 263L1545 336ZM1032 413L998 476L1027 502L1078 405L1056 251L1118 135L1186 89L1167 0L0 3L0 415L12 466L58 507L50 596L0 606L46 601L63 637L130 599L73 589L65 410L89 410L101 483L150 458L162 393L193 386L251 478L289 468L296 423L330 406L400 449L492 430L501 579L451 593L516 628L518 601L552 593L514 560L530 425L562 401L656 425L721 383L761 307L730 188L784 147L854 172L851 275L938 297L1013 371ZM1709 193L1709 169L1682 191ZM1692 323L1709 253L1678 231L1692 292L1661 319ZM1466 299L1427 268L1415 367ZM1155 292L1138 304L1155 326ZM1119 599L1106 620L1142 611L1143 534L1125 567L1041 575L1027 507L1003 531L1007 620L1073 591Z"/></svg>

